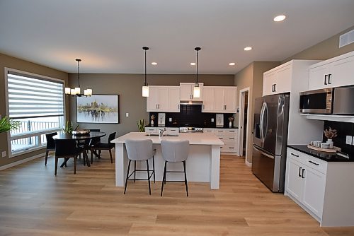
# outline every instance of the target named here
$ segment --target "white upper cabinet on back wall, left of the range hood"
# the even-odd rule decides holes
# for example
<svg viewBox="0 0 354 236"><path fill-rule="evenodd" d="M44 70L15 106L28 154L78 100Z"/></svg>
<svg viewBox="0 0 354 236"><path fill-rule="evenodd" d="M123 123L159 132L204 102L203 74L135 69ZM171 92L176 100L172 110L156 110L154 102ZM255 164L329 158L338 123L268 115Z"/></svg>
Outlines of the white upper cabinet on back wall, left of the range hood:
<svg viewBox="0 0 354 236"><path fill-rule="evenodd" d="M149 86L147 112L179 112L179 86Z"/></svg>

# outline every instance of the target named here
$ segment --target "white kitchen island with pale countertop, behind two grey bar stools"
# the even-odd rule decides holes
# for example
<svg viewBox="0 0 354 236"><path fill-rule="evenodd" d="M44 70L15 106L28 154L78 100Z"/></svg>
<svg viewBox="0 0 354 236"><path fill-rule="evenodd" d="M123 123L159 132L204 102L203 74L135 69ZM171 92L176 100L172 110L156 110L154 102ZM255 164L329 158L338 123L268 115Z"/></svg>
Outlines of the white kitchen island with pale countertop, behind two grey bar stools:
<svg viewBox="0 0 354 236"><path fill-rule="evenodd" d="M188 140L190 143L186 171L188 182L210 182L211 189L219 189L220 147L224 144L215 134L190 134L179 133L176 136L149 136L144 132L131 132L112 142L115 143L115 185L124 187L127 175L127 151L125 141L127 139L151 139L155 154L156 181L161 181L164 173L164 159L161 153L161 140ZM149 163L152 170L152 161ZM137 170L146 170L144 162L137 162ZM181 163L169 163L168 170L183 170ZM147 178L146 172L137 172L137 178ZM182 180L183 175L169 173L166 180Z"/></svg>

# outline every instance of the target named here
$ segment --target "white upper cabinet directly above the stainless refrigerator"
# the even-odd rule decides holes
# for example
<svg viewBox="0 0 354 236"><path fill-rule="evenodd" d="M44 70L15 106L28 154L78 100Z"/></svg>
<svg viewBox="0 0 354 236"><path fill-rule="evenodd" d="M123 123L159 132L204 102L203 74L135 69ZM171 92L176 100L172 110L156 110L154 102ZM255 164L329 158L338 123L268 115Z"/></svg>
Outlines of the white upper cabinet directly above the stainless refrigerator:
<svg viewBox="0 0 354 236"><path fill-rule="evenodd" d="M290 92L292 64L282 64L263 73L263 96Z"/></svg>

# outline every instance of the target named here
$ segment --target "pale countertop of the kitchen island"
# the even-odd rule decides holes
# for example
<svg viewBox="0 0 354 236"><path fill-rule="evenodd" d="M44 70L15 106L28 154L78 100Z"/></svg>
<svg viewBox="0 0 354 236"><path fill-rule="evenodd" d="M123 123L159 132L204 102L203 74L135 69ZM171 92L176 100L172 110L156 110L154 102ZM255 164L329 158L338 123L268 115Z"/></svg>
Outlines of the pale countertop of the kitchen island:
<svg viewBox="0 0 354 236"><path fill-rule="evenodd" d="M163 136L160 138L159 136L149 136L149 134L144 132L130 132L119 138L115 138L112 143L125 143L127 139L151 139L154 144L161 143L161 140L188 140L191 145L224 145L215 134L208 133L179 133L178 136Z"/></svg>

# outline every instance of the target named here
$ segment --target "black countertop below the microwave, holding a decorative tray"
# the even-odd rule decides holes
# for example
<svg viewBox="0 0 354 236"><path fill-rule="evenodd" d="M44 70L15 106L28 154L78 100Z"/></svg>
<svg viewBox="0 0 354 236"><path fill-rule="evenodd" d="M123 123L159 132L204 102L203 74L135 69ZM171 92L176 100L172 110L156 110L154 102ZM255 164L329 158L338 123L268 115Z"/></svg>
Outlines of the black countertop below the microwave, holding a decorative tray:
<svg viewBox="0 0 354 236"><path fill-rule="evenodd" d="M288 145L288 147L294 148L297 151L312 155L315 158L319 158L327 162L354 162L354 156L349 156L349 158L345 158L341 155L338 155L337 153L326 153L307 148L307 145Z"/></svg>

